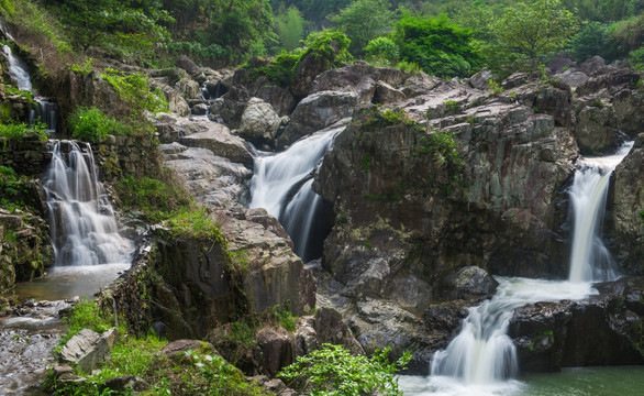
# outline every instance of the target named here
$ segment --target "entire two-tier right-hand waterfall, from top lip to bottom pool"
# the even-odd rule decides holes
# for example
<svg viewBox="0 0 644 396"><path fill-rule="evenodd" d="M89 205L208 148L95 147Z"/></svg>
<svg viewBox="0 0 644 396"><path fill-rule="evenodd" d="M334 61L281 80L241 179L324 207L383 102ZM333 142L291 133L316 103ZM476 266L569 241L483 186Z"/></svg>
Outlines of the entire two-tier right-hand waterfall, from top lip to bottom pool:
<svg viewBox="0 0 644 396"><path fill-rule="evenodd" d="M612 170L626 156L633 142L618 153L584 160L570 189L574 218L573 252L568 282L499 277L497 294L469 308L458 336L431 363L431 393L459 388L457 394L478 393L481 387L512 387L504 382L518 373L517 351L507 334L515 308L537 301L582 299L597 293L591 280L611 280L610 253L601 241L601 221ZM452 394L447 392L447 394ZM490 391L492 394L499 392ZM501 392L506 393L506 392ZM422 394L422 393L421 393Z"/></svg>

